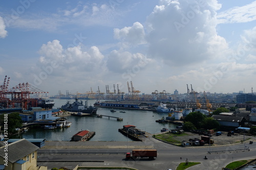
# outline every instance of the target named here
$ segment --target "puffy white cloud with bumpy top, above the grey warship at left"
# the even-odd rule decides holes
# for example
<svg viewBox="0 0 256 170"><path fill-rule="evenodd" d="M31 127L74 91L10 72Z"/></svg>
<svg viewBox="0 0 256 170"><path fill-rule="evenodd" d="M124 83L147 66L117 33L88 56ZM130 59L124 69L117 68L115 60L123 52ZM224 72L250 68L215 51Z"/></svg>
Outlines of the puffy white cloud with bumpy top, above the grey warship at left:
<svg viewBox="0 0 256 170"><path fill-rule="evenodd" d="M68 70L95 71L103 65L104 56L98 47L92 46L88 51L83 50L80 45L63 48L59 40L53 40L43 44L39 50L39 65L57 63L59 74L65 74Z"/></svg>

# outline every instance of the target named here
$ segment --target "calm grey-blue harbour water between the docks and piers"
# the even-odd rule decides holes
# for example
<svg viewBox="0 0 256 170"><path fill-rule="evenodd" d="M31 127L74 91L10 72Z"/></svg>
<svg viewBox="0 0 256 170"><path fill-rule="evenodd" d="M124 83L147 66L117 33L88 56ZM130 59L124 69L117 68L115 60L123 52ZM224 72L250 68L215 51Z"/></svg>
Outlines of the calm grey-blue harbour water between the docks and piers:
<svg viewBox="0 0 256 170"><path fill-rule="evenodd" d="M74 100L60 100L54 99L54 108L59 108L61 105L66 104L67 101L74 102ZM85 103L86 100L83 100ZM93 105L95 100L88 100L88 106ZM66 117L69 122L72 122L69 128L59 128L54 130L45 130L43 128L29 129L27 132L12 136L12 138L45 138L47 140L63 140L68 141L74 134L81 130L94 131L95 136L91 141L126 141L126 136L118 132L119 128L123 125L134 125L137 129L154 134L159 133L162 128L175 129L176 125L170 123L156 123L157 119L166 117L167 113L157 113L153 111L140 111L140 110L124 110L115 109L116 112L110 112L110 108L98 108L97 114L111 115L123 118L123 121L117 121L116 118L108 117ZM120 113L125 111L126 113ZM130 140L130 139L128 139Z"/></svg>

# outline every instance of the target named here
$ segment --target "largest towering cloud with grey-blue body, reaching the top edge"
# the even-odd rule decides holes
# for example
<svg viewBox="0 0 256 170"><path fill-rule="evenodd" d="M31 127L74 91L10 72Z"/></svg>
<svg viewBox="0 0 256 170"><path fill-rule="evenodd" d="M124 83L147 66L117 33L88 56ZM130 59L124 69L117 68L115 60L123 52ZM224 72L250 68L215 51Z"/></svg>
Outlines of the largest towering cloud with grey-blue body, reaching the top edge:
<svg viewBox="0 0 256 170"><path fill-rule="evenodd" d="M220 8L216 0L161 1L146 20L148 54L179 66L223 57L228 44L216 31Z"/></svg>

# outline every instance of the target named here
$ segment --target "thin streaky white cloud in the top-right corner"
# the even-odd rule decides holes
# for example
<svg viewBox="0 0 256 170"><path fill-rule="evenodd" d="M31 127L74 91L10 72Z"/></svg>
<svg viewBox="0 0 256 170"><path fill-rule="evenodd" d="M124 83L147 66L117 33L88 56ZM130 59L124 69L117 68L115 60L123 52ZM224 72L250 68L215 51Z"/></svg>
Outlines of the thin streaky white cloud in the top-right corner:
<svg viewBox="0 0 256 170"><path fill-rule="evenodd" d="M217 15L218 23L241 23L256 19L256 1L242 6L234 7Z"/></svg>

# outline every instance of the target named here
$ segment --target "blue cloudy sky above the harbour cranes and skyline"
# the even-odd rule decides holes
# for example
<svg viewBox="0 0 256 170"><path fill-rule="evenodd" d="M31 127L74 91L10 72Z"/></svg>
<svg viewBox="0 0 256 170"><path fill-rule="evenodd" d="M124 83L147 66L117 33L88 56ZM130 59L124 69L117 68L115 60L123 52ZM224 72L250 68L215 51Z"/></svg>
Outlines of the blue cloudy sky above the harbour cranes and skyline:
<svg viewBox="0 0 256 170"><path fill-rule="evenodd" d="M251 92L256 1L0 1L0 85ZM1 78L2 77L2 78Z"/></svg>

